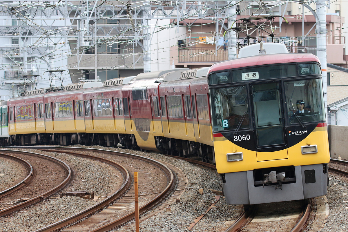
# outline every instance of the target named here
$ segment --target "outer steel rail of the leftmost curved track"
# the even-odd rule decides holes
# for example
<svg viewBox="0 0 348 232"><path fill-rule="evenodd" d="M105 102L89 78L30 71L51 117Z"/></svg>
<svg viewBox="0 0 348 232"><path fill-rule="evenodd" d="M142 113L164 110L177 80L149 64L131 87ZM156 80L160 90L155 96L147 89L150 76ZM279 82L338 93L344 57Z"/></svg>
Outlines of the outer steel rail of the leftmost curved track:
<svg viewBox="0 0 348 232"><path fill-rule="evenodd" d="M10 213L13 213L14 211L17 211L17 210L22 209L24 207L30 206L30 205L32 205L35 202L41 201L42 199L47 198L50 195L55 194L56 192L60 191L71 180L71 176L72 175L71 175L70 167L65 162L63 162L60 159L56 159L56 158L50 157L48 155L43 155L43 154L38 154L38 153L33 153L33 152L24 152L24 151L16 151L16 150L5 150L5 149L0 149L0 151L10 152L10 153L26 153L27 155L41 157L41 158L44 158L44 159L47 159L47 160L50 160L52 162L57 163L58 165L63 167L65 169L66 173L67 173L67 176L64 179L64 181L62 183L60 183L58 186L54 187L53 189L51 189L51 190L49 190L49 191L47 191L47 192L45 192L43 194L38 195L37 197L34 197L32 199L29 199L27 201L19 203L19 204L15 205L15 206L11 206L9 208L0 210L0 216L4 216L4 215L10 214Z"/></svg>

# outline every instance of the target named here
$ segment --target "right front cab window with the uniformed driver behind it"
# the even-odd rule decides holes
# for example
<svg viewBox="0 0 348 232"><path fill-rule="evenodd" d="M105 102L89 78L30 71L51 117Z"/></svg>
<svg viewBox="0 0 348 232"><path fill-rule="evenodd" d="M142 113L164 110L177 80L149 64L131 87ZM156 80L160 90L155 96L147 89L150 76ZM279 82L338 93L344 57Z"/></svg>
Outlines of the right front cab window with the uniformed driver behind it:
<svg viewBox="0 0 348 232"><path fill-rule="evenodd" d="M288 124L325 120L322 89L321 79L285 82Z"/></svg>

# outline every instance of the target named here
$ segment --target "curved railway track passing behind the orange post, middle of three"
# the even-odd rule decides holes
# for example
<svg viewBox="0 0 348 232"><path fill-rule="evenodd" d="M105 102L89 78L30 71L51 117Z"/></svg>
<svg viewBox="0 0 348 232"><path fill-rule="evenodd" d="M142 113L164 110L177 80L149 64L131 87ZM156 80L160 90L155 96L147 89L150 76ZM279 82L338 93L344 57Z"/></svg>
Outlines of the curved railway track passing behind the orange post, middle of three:
<svg viewBox="0 0 348 232"><path fill-rule="evenodd" d="M31 149L32 148L33 147L31 147ZM138 181L139 183L142 183L142 185L139 186L139 189L142 189L142 190L153 188L151 184L146 185L145 183L153 183L151 181L149 182L149 180L151 178L154 178L153 176L157 176L156 178L158 178L159 172L162 172L161 174L163 176L161 177L162 181L160 180L157 181L158 186L154 188L155 191L152 191L152 192L142 191L142 194L139 195L139 205L140 205L139 211L141 215L147 213L149 210L151 210L153 207L158 205L160 202L163 202L164 200L168 199L169 195L173 191L177 190L176 189L177 186L182 185L182 183L176 182L175 176L173 175L172 171L168 167L166 167L165 165L161 165L159 162L149 158L131 155L127 153L111 152L111 151L96 150L96 149L71 149L70 147L69 148L56 147L55 148L56 150L52 150L53 148L51 148L50 150L47 150L47 149L43 149L42 147L36 147L36 148L37 149L39 148L40 150L45 150L46 152L70 153L80 157L88 156L86 153L93 153L94 159L105 159L106 157L109 159L110 162L113 162L110 159L117 159L118 162L128 163L127 169L129 169L129 167L132 167L132 166L136 169L136 167L140 166L142 167L141 170L147 170L148 172L147 175L144 175L143 172L140 172ZM75 150L75 151L72 152L71 150ZM129 161L130 159L132 160ZM136 160L141 160L141 161L136 161ZM137 162L141 162L142 165L140 165ZM125 172L127 171L126 168L124 168L124 171ZM132 172L129 172L129 173L132 174ZM122 189L118 191L117 193L112 194L112 196L104 199L102 202L98 203L97 205L80 212L79 214L73 215L60 222L46 226L42 229L37 230L37 232L56 231L56 230L59 230L59 231L92 231L92 230L93 231L108 231L108 230L117 228L121 225L124 225L127 222L132 221L135 217L134 187L132 186L133 177L129 173L127 172L127 174L126 173L122 174L124 176L127 176L126 182L124 183L124 185L122 185ZM154 173L156 173L156 175L153 175ZM165 179L165 181L163 181L163 179ZM165 183L165 184L163 185L161 183ZM161 191L158 191L158 189L161 189ZM181 189L181 191L183 191L183 189Z"/></svg>

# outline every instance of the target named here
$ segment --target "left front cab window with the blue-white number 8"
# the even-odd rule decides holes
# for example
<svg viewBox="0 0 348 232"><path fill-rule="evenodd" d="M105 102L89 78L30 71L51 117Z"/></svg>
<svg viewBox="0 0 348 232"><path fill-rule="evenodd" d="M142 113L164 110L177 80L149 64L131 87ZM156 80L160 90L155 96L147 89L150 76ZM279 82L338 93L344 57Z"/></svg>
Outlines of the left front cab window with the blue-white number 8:
<svg viewBox="0 0 348 232"><path fill-rule="evenodd" d="M246 86L211 89L213 131L250 128Z"/></svg>

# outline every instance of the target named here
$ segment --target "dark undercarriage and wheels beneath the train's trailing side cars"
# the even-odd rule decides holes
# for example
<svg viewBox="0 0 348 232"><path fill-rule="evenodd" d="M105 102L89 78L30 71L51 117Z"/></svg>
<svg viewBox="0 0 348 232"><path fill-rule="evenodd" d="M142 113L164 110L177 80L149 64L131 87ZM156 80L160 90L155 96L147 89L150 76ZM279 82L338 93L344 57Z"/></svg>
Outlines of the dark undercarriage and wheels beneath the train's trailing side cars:
<svg viewBox="0 0 348 232"><path fill-rule="evenodd" d="M214 148L212 146L161 136L155 136L155 142L156 148L161 153L215 163ZM147 151L137 145L133 134L38 133L10 135L8 138L1 140L2 146L74 144L124 147L131 150Z"/></svg>

